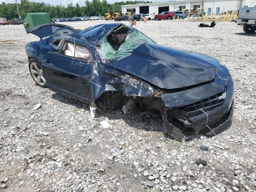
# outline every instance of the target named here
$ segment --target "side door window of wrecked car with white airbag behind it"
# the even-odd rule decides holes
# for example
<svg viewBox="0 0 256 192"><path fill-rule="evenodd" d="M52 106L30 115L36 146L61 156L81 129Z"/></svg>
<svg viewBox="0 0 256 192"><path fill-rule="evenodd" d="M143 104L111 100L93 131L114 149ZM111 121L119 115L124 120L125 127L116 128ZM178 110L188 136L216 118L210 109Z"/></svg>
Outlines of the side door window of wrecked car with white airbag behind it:
<svg viewBox="0 0 256 192"><path fill-rule="evenodd" d="M85 46L80 44L76 44L75 46L71 42L66 42L63 47L62 53L66 56L92 60L91 53Z"/></svg>

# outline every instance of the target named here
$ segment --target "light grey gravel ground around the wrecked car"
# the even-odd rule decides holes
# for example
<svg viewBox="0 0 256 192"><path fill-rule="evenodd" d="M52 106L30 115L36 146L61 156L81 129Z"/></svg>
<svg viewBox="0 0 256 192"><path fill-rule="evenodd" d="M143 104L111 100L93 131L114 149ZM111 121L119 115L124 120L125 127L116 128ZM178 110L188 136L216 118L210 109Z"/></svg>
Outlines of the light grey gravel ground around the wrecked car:
<svg viewBox="0 0 256 192"><path fill-rule="evenodd" d="M100 22L106 21L64 24L83 29ZM245 34L231 22L198 24L137 24L158 44L212 56L230 70L232 126L185 142L166 138L161 120L143 122L122 110L99 112L114 121L112 130L102 128L87 104L35 85L25 45L38 38L23 26L0 26L0 191L255 192L256 33ZM198 158L207 165L196 164ZM154 187L144 188L136 177Z"/></svg>

